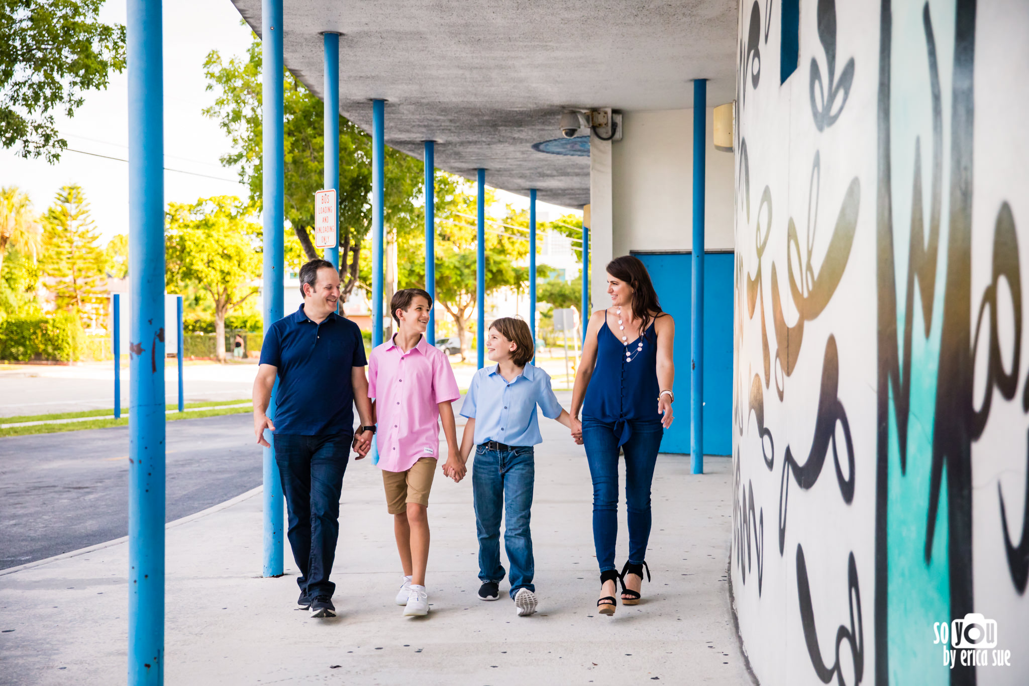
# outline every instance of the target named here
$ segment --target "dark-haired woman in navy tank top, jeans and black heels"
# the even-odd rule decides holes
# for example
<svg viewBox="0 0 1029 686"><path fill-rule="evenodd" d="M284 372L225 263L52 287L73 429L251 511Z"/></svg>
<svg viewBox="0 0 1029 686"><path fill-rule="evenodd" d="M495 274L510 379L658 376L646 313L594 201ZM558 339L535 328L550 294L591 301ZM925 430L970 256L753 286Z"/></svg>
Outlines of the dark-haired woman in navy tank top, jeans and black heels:
<svg viewBox="0 0 1029 686"><path fill-rule="evenodd" d="M615 579L622 581L622 604L638 605L644 567L650 578L644 559L650 536L650 481L661 437L672 425L675 322L661 311L650 275L636 257L608 263L607 293L611 306L590 318L571 414L572 436L584 443L593 477L593 540L601 582L597 607L611 615ZM626 456L629 510L629 559L622 574L614 566L619 447Z"/></svg>

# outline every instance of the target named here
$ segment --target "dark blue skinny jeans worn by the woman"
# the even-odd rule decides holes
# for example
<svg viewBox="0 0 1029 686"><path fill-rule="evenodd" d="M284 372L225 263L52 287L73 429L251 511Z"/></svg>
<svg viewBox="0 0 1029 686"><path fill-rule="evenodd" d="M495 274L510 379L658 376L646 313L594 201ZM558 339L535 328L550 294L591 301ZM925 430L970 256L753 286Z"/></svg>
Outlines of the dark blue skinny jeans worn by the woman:
<svg viewBox="0 0 1029 686"><path fill-rule="evenodd" d="M646 557L650 538L650 481L665 429L661 424L630 422L626 454L626 505L629 510L629 562ZM618 435L614 424L582 419L582 443L593 477L593 543L600 571L615 570L618 535ZM616 570L615 570L616 571Z"/></svg>

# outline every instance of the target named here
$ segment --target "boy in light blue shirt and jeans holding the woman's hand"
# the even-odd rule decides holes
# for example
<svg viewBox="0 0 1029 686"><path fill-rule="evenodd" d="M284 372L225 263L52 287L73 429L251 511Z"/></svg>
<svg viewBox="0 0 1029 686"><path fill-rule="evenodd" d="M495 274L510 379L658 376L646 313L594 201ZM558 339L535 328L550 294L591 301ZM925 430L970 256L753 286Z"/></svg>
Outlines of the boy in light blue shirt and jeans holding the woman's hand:
<svg viewBox="0 0 1029 686"><path fill-rule="evenodd" d="M462 465L450 470L455 481L464 477L463 463L475 445L471 486L478 534L478 598L495 601L504 578L500 564L500 516L506 514L504 548L510 563L510 598L518 615L536 611L535 564L529 511L535 479L533 445L539 435L536 405L543 416L569 429L571 418L551 389L551 376L530 362L532 334L521 319L503 317L490 325L486 350L497 364L475 372L461 405L468 418L461 439Z"/></svg>

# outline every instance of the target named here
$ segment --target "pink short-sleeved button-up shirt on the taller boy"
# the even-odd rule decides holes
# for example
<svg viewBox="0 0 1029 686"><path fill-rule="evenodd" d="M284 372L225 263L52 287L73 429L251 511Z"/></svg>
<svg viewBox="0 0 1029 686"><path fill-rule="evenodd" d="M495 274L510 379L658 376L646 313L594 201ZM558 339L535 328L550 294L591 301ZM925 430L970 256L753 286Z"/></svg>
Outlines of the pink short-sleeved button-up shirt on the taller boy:
<svg viewBox="0 0 1029 686"><path fill-rule="evenodd" d="M379 468L405 472L421 458L438 458L438 404L461 393L447 354L423 335L406 353L392 339L371 351L368 397L376 399Z"/></svg>

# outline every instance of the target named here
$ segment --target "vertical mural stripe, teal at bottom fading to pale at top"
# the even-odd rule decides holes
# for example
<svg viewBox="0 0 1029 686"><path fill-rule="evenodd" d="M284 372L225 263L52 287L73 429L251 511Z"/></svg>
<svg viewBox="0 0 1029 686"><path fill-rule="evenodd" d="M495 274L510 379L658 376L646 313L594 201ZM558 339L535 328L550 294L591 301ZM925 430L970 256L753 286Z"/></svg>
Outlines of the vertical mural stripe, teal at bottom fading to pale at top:
<svg viewBox="0 0 1029 686"><path fill-rule="evenodd" d="M933 49L943 100L944 149L949 147L950 96L954 60L954 2L929 3L934 33ZM929 230L931 216L933 124L931 113L930 64L923 19L923 3L898 3L892 11L890 89L891 202L893 210L893 254L896 269L897 350L902 359L906 292L910 257L911 226L916 211ZM917 144L916 144L917 141ZM944 153L943 179L949 177L948 156ZM920 176L921 190L915 192ZM944 646L933 644L932 625L950 621L950 562L948 481L944 470L935 536L926 561L930 465L932 460L934 414L939 372L944 298L947 290L947 251L949 194L944 192L939 209L941 249L936 255L935 284L931 313L922 311L921 286L913 284L911 391L909 396L907 469L901 473L900 448L895 423L895 396L889 399L889 458L887 470L887 635L889 683L949 684L951 671L944 666ZM918 206L921 206L920 208ZM925 321L931 317L928 336Z"/></svg>

